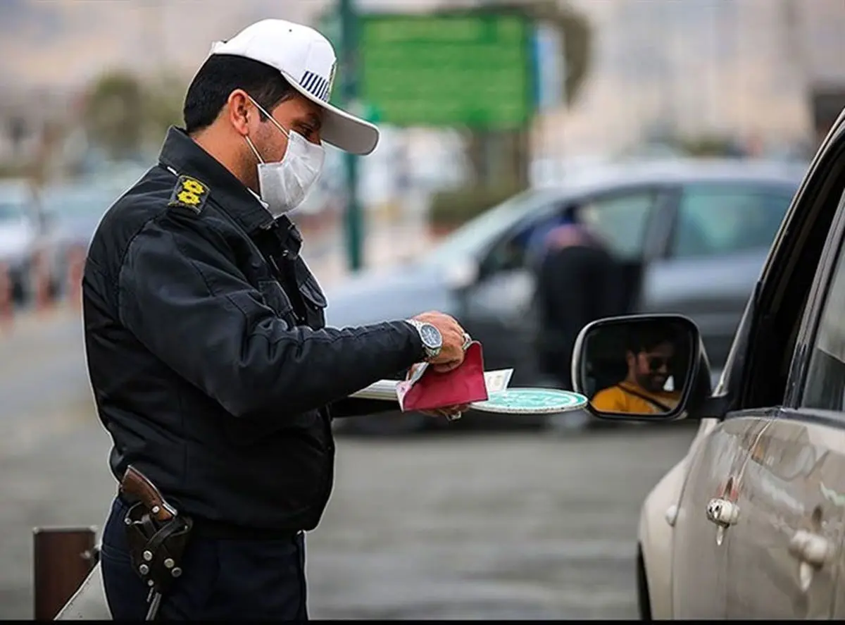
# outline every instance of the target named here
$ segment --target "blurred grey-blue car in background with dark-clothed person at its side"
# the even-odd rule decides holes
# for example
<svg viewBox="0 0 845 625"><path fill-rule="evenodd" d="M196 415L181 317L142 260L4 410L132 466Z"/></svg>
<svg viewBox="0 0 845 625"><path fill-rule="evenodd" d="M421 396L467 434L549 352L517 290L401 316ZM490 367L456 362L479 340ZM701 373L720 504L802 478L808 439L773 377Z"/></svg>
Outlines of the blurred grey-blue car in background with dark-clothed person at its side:
<svg viewBox="0 0 845 625"><path fill-rule="evenodd" d="M488 370L514 368L511 386L548 386L534 350L526 243L536 228L578 206L626 272L627 309L690 316L719 369L804 171L800 163L735 159L587 167L558 186L515 195L416 260L327 289L327 321L350 326L443 310L482 342ZM470 413L461 422L488 419ZM335 423L341 431L374 434L438 421L388 413Z"/></svg>

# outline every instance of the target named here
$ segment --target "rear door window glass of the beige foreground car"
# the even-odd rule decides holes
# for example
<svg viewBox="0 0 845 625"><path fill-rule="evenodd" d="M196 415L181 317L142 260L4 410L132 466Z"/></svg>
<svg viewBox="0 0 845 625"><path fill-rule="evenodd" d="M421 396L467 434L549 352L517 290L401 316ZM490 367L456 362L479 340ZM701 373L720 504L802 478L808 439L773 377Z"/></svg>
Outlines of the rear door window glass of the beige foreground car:
<svg viewBox="0 0 845 625"><path fill-rule="evenodd" d="M806 386L801 406L823 410L845 409L845 255L837 260L837 268L826 293L824 309L810 353Z"/></svg>

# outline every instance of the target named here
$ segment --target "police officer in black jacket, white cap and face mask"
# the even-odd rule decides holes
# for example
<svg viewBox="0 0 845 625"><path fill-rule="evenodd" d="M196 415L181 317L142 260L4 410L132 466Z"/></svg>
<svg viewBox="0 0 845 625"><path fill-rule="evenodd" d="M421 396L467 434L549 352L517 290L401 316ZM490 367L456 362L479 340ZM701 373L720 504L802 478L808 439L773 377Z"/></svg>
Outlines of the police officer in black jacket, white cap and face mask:
<svg viewBox="0 0 845 625"><path fill-rule="evenodd" d="M334 74L330 42L281 19L216 43L185 129L169 130L90 245L85 347L112 472L139 469L193 520L159 617L307 618L303 532L332 489L330 419L372 412L348 396L374 381L463 359L466 333L437 312L324 327L286 211L319 176L323 141L366 155L379 139L329 104ZM150 596L130 503L118 494L102 535L117 620L144 618Z"/></svg>

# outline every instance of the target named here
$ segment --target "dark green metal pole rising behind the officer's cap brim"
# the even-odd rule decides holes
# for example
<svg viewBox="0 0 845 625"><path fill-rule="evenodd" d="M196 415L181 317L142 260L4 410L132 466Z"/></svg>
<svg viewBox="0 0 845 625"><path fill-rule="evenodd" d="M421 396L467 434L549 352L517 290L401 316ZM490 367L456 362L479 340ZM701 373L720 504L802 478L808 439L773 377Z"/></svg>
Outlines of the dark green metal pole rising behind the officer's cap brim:
<svg viewBox="0 0 845 625"><path fill-rule="evenodd" d="M343 101L347 108L357 101L357 16L353 0L338 0L341 14L341 79ZM358 200L358 161L354 154L344 155L346 170L346 252L350 271L363 265L363 215Z"/></svg>

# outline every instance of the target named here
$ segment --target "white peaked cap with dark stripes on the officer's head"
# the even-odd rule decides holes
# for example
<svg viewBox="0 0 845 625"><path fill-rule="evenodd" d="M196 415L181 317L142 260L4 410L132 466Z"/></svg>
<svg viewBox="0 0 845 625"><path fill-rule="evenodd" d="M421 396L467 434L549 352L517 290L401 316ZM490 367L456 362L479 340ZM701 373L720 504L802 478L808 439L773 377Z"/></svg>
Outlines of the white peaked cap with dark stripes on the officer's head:
<svg viewBox="0 0 845 625"><path fill-rule="evenodd" d="M313 28L285 19L262 19L232 39L216 41L211 54L251 58L278 69L294 89L323 107L320 136L326 143L359 155L378 145L375 125L330 105L337 58L329 40Z"/></svg>

